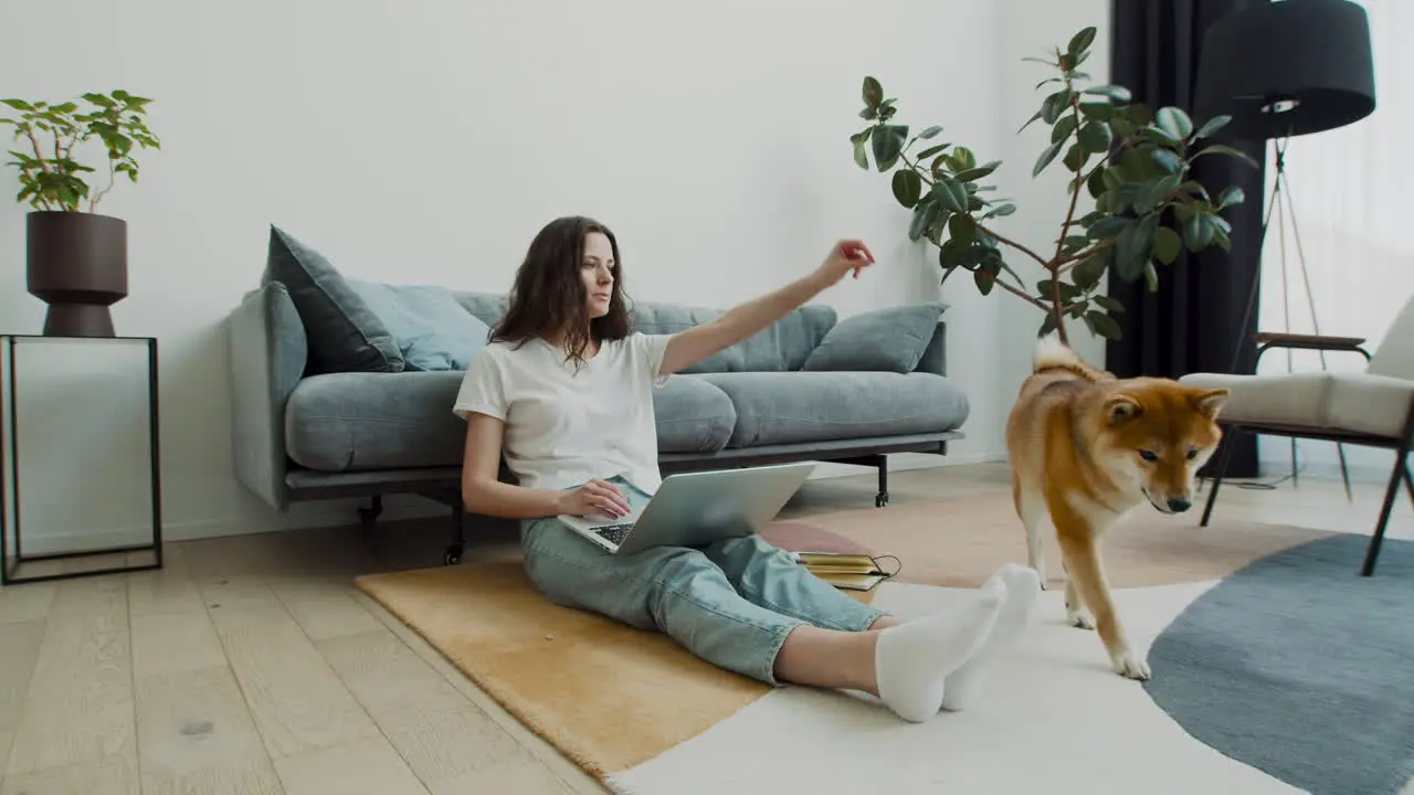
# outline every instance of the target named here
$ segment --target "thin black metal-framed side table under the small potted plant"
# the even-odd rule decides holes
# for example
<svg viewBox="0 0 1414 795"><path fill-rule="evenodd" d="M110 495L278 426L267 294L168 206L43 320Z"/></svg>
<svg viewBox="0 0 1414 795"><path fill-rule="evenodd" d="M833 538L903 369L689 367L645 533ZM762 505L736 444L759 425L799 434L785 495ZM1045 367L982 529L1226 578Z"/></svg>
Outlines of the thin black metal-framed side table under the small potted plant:
<svg viewBox="0 0 1414 795"><path fill-rule="evenodd" d="M54 552L44 555L24 555L24 536L21 532L23 519L20 516L20 393L18 366L16 349L20 345L44 345L52 342L100 342L139 344L147 348L147 423L148 423L148 465L151 470L151 542L144 545L127 545L107 549L89 549L78 552ZM72 577L92 577L96 574L116 574L123 571L147 571L163 567L163 488L161 488L161 444L157 413L157 340L154 337L45 337L37 334L0 334L0 586L16 583L37 583L42 580L66 580ZM14 501L11 525L11 499ZM11 532L14 549L11 550ZM100 555L123 555L150 552L151 563L134 563L126 566L105 566L95 569L81 569L75 571L59 571L45 574L20 574L18 570L27 563L44 560L62 560L74 557L95 557Z"/></svg>

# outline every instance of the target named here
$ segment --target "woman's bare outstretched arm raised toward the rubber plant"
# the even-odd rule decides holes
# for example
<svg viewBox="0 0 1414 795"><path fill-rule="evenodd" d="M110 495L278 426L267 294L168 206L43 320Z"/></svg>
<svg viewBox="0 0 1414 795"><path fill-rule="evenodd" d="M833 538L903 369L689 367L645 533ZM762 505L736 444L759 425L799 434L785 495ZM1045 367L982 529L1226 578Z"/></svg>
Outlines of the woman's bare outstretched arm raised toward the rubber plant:
<svg viewBox="0 0 1414 795"><path fill-rule="evenodd" d="M741 342L790 314L826 287L834 286L847 273L853 272L858 277L860 270L871 265L874 255L861 240L840 240L820 267L809 276L740 304L713 321L674 334L667 342L659 375L689 368L723 348Z"/></svg>

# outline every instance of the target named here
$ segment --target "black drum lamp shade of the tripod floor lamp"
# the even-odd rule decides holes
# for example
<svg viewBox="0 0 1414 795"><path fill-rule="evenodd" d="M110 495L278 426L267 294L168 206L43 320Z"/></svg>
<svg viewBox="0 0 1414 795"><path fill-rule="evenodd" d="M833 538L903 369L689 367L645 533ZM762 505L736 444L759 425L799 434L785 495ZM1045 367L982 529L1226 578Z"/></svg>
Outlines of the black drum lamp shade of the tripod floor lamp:
<svg viewBox="0 0 1414 795"><path fill-rule="evenodd" d="M1411 1L1411 0L1400 0ZM1374 112L1370 21L1349 0L1278 0L1203 34L1195 116L1232 116L1225 137L1319 133Z"/></svg>

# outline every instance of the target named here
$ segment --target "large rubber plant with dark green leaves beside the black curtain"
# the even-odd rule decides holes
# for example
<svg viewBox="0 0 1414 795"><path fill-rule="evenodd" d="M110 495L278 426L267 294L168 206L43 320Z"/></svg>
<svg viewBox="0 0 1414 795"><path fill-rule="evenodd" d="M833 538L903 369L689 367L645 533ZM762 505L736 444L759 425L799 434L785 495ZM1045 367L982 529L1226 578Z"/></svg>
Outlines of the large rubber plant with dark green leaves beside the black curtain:
<svg viewBox="0 0 1414 795"><path fill-rule="evenodd" d="M1055 331L1066 342L1068 320L1106 340L1120 338L1120 324L1110 315L1124 306L1100 294L1106 272L1113 269L1124 282L1144 279L1154 291L1158 267L1171 265L1184 248L1230 249L1232 225L1222 212L1240 204L1243 191L1227 185L1209 192L1192 174L1195 160L1212 154L1258 166L1241 150L1213 141L1227 116L1195 123L1181 108L1150 110L1124 86L1085 85L1089 75L1079 66L1094 34L1094 27L1082 28L1049 58L1025 58L1052 71L1036 83L1046 92L1041 108L1021 127L1035 122L1049 127L1031 177L1052 163L1069 173L1069 209L1051 249L1031 249L993 229L991 219L1017 211L1007 199L987 197L995 185L986 180L1000 160L978 163L964 146L928 143L943 132L940 126L909 136L911 127L895 119L898 100L872 76L864 78L860 110L870 126L850 136L860 168L870 168L872 154L880 173L892 173L894 198L912 211L908 236L937 248L942 282L967 270L983 296L1001 287L1019 297L1041 311L1038 334ZM1077 212L1082 191L1093 199L1086 212ZM1034 260L1044 277L1028 284L1010 257Z"/></svg>

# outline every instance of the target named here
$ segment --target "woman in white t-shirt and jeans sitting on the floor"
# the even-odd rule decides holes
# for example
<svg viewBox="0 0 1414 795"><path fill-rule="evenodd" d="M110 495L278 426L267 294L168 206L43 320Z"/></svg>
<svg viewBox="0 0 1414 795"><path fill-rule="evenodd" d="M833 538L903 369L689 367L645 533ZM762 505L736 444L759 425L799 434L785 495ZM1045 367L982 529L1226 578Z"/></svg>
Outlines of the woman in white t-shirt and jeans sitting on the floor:
<svg viewBox="0 0 1414 795"><path fill-rule="evenodd" d="M694 655L779 685L861 690L922 721L974 697L1031 618L1039 580L1007 566L962 607L908 622L840 593L759 536L609 555L556 516L629 512L662 482L655 385L874 265L858 240L809 276L676 334L629 330L618 242L560 218L530 243L510 304L454 405L467 420L467 509L520 519L525 566L551 601L667 632ZM499 463L519 485L501 482Z"/></svg>

